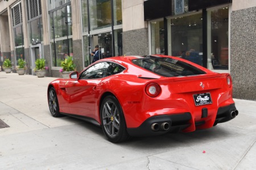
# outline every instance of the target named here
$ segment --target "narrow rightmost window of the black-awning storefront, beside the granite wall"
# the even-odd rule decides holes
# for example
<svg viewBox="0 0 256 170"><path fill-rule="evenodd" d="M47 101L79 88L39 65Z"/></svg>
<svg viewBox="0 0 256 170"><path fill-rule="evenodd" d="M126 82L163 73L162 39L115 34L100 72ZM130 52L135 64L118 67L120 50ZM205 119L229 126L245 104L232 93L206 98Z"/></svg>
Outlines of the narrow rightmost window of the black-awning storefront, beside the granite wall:
<svg viewBox="0 0 256 170"><path fill-rule="evenodd" d="M213 69L228 69L229 65L229 9L228 7L210 11L211 57ZM210 58L209 58L210 59Z"/></svg>

